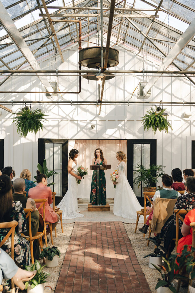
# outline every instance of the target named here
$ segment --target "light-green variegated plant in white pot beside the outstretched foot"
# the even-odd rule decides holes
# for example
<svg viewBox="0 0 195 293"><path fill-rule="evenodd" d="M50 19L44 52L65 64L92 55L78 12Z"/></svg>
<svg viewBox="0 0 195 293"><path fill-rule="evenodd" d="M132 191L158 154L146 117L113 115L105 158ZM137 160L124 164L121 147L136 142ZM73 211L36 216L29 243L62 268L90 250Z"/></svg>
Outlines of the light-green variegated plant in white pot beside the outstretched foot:
<svg viewBox="0 0 195 293"><path fill-rule="evenodd" d="M27 289L28 293L44 293L44 283L46 282L46 277L50 276L48 272L44 272L43 268L38 260L35 260L34 265L26 265L25 269L27 271L37 270L36 275L32 278L32 280L25 282L25 289Z"/></svg>

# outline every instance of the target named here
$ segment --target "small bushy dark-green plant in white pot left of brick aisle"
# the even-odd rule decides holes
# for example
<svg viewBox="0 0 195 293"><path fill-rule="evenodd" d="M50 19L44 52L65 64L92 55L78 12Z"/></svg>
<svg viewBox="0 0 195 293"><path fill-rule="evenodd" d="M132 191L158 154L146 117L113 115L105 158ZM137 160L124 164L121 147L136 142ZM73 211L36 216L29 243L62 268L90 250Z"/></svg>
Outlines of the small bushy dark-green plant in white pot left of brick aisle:
<svg viewBox="0 0 195 293"><path fill-rule="evenodd" d="M48 246L43 249L39 257L45 257L46 267L56 268L58 266L58 256L60 257L60 255L61 252L56 246L52 246L51 248Z"/></svg>

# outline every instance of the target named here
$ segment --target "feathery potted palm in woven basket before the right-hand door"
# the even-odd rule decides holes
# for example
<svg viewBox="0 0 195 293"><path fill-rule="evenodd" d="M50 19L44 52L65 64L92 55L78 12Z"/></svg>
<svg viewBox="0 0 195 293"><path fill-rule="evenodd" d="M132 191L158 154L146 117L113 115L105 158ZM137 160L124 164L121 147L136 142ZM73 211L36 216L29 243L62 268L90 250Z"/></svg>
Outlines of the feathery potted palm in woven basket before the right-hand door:
<svg viewBox="0 0 195 293"><path fill-rule="evenodd" d="M161 165L149 165L149 168L144 167L141 164L137 165L135 171L134 184L138 184L138 188L143 183L144 191L156 191L156 185L158 182L157 178L162 177L165 173L163 170L164 166Z"/></svg>

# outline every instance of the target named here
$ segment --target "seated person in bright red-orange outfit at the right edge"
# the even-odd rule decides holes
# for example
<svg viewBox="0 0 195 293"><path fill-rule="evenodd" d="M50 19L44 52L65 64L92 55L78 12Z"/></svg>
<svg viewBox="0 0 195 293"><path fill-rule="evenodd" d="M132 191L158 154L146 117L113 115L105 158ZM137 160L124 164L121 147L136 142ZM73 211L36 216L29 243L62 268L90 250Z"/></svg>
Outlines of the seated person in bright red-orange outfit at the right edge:
<svg viewBox="0 0 195 293"><path fill-rule="evenodd" d="M195 222L195 209L192 209L185 216L184 222L182 224L182 235L183 237L178 241L177 252L181 253L184 245L192 245L192 228L190 223Z"/></svg>

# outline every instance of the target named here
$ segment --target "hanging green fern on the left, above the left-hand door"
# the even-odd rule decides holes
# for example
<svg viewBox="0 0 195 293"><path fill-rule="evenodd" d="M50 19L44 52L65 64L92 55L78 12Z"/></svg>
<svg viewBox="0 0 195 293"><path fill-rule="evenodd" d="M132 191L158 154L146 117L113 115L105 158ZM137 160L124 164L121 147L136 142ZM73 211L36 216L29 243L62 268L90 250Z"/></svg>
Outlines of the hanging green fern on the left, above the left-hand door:
<svg viewBox="0 0 195 293"><path fill-rule="evenodd" d="M13 122L15 123L17 132L20 136L26 137L30 132L34 132L36 134L39 130L43 131L44 125L42 122L46 120L44 117L47 115L42 112L42 110L31 110L28 107L20 110L21 111L16 113L16 116L13 118Z"/></svg>

